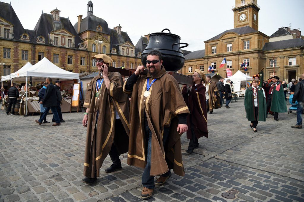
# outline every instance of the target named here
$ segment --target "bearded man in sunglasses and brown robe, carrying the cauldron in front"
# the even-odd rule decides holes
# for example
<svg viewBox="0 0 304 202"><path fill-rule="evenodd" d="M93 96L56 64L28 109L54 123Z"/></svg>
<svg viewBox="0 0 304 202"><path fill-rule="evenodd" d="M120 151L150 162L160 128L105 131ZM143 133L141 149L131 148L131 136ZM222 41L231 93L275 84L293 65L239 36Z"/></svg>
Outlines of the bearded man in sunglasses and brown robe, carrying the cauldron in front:
<svg viewBox="0 0 304 202"><path fill-rule="evenodd" d="M140 75L144 66L138 66L123 86L131 94L128 164L144 168L142 199L152 196L154 176L163 185L172 168L185 175L180 136L188 130L189 113L177 81L162 66L161 53L150 51L146 63L148 73Z"/></svg>

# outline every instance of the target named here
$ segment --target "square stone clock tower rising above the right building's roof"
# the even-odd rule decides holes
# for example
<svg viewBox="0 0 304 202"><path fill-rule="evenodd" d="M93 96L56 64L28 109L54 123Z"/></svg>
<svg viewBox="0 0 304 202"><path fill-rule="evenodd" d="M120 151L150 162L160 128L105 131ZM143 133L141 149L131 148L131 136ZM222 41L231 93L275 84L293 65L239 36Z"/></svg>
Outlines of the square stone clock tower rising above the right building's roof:
<svg viewBox="0 0 304 202"><path fill-rule="evenodd" d="M257 0L235 0L234 28L250 26L258 31L259 5Z"/></svg>

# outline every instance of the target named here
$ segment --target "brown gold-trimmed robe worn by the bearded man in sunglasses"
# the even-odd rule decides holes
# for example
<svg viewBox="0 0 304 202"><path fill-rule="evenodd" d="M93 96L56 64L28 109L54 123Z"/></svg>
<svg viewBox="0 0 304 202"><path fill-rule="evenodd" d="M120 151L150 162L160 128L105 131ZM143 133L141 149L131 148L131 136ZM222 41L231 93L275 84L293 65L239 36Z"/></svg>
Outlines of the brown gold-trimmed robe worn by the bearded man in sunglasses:
<svg viewBox="0 0 304 202"><path fill-rule="evenodd" d="M147 141L144 132L144 111L152 132L152 154L150 176L159 176L173 168L174 173L185 175L181 157L181 139L176 131L177 114L189 113L180 88L173 76L162 69L153 79L157 79L150 88L150 96L144 97L147 90L147 78L150 73L139 76L133 85L130 107L130 141L128 164L145 168L147 164ZM125 82L126 84L126 82ZM171 126L167 143L163 145L164 127Z"/></svg>

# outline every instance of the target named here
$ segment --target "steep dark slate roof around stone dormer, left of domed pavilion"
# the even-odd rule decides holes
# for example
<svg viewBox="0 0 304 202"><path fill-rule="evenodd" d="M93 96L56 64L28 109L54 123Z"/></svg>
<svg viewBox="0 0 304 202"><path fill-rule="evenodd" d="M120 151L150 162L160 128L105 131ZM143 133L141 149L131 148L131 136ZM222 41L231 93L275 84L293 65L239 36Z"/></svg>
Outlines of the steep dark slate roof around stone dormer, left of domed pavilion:
<svg viewBox="0 0 304 202"><path fill-rule="evenodd" d="M81 43L81 38L79 37L78 33L74 29L73 25L71 24L68 18L60 17L60 22L55 22L54 17L51 14L42 13L40 18L34 28L35 36L38 37L42 35L45 38L45 44L51 45L49 43L49 36L48 34L52 31L65 29L70 32L72 35L75 36L75 48L78 47L78 43Z"/></svg>

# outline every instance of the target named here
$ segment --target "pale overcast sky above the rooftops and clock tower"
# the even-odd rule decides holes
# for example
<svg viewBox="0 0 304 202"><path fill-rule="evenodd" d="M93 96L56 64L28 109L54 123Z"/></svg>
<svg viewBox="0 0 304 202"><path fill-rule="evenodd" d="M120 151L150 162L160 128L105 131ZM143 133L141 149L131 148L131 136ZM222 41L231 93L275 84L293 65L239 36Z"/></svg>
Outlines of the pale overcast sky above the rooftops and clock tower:
<svg viewBox="0 0 304 202"><path fill-rule="evenodd" d="M9 3L9 0L0 0ZM134 45L140 36L168 28L189 44L185 50L205 49L204 41L233 29L234 0L99 0L93 2L93 13L104 19L110 28L120 24ZM61 17L69 17L72 25L77 16L87 16L87 0L12 0L25 29L34 29L42 11L56 7ZM300 29L304 35L304 0L257 0L260 6L259 31L270 36L280 27ZM1 8L0 8L1 12Z"/></svg>

